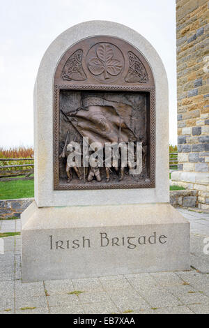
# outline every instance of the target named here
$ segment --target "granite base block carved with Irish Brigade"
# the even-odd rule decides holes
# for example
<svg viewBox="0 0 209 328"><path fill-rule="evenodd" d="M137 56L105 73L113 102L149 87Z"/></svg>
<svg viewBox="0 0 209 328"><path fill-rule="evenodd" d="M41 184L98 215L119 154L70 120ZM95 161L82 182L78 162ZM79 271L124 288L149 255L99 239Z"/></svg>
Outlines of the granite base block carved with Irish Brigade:
<svg viewBox="0 0 209 328"><path fill-rule="evenodd" d="M22 281L189 269L189 223L167 203L22 214Z"/></svg>

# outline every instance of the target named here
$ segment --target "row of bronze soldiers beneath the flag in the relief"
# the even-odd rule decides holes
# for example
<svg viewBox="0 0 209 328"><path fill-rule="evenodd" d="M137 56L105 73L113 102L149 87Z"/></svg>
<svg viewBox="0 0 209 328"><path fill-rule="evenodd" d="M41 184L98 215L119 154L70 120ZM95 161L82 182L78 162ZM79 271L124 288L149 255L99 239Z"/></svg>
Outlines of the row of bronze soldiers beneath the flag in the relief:
<svg viewBox="0 0 209 328"><path fill-rule="evenodd" d="M95 148L95 153L93 153L91 147L89 147L88 151L90 151L90 154L85 156L85 160L88 163L87 167L83 167L83 154L81 149L82 147L80 144L72 141L65 145L60 156L66 158L65 172L67 174L68 183L72 180L73 171L77 179L84 179L84 182L91 182L93 180L102 181L101 169L103 166L105 167L106 182L110 181L112 173L117 174L118 181L121 181L125 177L125 170L127 174L132 174L132 170L137 166L136 144L132 144L132 147L130 147L125 144L125 142L121 142L120 144L115 143L113 149L110 149L110 151L102 149L102 157L97 154L97 148ZM141 151L140 159L142 159L142 154L143 151ZM132 174L132 176L134 177L134 174Z"/></svg>

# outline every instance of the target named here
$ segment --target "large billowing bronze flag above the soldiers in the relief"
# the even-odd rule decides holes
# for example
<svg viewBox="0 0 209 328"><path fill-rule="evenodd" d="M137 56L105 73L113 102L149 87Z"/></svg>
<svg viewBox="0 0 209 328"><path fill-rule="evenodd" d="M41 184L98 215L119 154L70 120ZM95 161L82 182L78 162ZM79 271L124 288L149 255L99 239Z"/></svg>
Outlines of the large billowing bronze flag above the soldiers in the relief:
<svg viewBox="0 0 209 328"><path fill-rule="evenodd" d="M82 107L68 112L72 125L88 141L134 142L137 137L130 128L132 107L124 103L88 96L82 100Z"/></svg>

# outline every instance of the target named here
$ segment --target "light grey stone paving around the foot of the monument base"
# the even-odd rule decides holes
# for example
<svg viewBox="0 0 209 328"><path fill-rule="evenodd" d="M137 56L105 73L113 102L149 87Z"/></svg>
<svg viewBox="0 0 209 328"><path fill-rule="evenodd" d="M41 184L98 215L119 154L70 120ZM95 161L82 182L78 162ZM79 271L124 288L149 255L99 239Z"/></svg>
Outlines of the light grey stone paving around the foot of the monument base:
<svg viewBox="0 0 209 328"><path fill-rule="evenodd" d="M20 236L6 237L0 255L0 313L208 313L209 214L178 209L191 225L191 270L22 283ZM20 220L0 221L20 232Z"/></svg>

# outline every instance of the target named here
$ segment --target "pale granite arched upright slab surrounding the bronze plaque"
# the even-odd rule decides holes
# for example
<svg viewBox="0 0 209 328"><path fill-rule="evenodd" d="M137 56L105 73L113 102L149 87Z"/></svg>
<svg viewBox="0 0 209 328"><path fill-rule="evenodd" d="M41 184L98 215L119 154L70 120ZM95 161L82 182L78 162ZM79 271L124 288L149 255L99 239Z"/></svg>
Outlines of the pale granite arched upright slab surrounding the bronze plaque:
<svg viewBox="0 0 209 328"><path fill-rule="evenodd" d="M58 179L54 183L54 166L56 167L57 154L54 160L54 78L56 69L62 58L68 57L70 48L80 41L91 37L117 38L124 40L141 54L141 59L147 63L150 70L150 84L155 88L155 122L153 120L153 166L151 167L150 188L128 188L114 190L61 190ZM79 50L79 49L78 49ZM75 52L77 50L75 49ZM75 54L75 52L73 54ZM72 55L73 55L72 54ZM118 52L117 57L120 59ZM121 57L121 61L123 61ZM68 73L65 70L65 84L69 84ZM85 75L85 70L84 70ZM70 76L71 79L72 76ZM128 80L130 76L125 74ZM100 81L101 82L101 81ZM79 83L82 83L79 81ZM78 83L78 84L79 84ZM104 82L106 83L106 82ZM113 82L114 83L114 79ZM110 83L110 84L111 84ZM127 82L126 84L130 84ZM132 81L132 85L145 85L140 81ZM149 85L149 87L151 87ZM35 117L35 199L39 207L68 206L81 204L138 204L146 202L169 202L169 106L167 75L162 61L152 45L136 31L122 24L108 21L92 21L77 24L61 33L42 58L34 89L34 117ZM58 127L57 127L58 128ZM58 152L58 151L57 151ZM156 154L154 156L154 153ZM154 163L155 162L155 163ZM56 173L58 171L56 170ZM167 172L167 174L165 173ZM55 174L56 175L56 174ZM155 179L154 179L155 178ZM54 188L55 186L55 188ZM144 184L146 186L146 184ZM146 186L146 187L147 187ZM116 187L117 188L117 187ZM56 190L54 190L56 189ZM57 190L58 189L58 190ZM105 189L105 188L104 188Z"/></svg>

